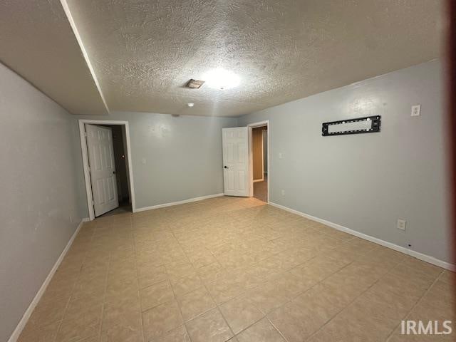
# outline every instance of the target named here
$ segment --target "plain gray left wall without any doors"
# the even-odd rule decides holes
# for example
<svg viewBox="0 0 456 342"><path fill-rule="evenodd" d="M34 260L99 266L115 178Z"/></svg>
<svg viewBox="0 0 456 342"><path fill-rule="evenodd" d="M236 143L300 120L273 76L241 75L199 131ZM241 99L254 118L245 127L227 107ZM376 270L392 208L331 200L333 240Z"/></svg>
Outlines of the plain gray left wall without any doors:
<svg viewBox="0 0 456 342"><path fill-rule="evenodd" d="M78 137L66 110L0 64L0 115L0 341L7 341L81 211Z"/></svg>

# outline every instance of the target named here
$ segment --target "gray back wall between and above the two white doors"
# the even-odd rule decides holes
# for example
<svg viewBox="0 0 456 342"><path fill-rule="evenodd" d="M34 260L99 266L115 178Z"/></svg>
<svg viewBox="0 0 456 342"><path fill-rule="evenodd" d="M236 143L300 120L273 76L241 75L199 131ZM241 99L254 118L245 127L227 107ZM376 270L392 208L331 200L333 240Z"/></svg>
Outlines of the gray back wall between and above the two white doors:
<svg viewBox="0 0 456 342"><path fill-rule="evenodd" d="M156 113L75 118L128 121L137 208L223 192L222 128L236 126L236 118ZM82 173L81 148L78 153ZM83 178L80 197L87 208Z"/></svg>

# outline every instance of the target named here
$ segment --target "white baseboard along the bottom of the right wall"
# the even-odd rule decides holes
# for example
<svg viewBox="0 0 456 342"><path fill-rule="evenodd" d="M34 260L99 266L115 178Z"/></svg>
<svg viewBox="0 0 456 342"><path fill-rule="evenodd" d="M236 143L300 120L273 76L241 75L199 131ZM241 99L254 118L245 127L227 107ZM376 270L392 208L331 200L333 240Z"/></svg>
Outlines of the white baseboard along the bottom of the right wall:
<svg viewBox="0 0 456 342"><path fill-rule="evenodd" d="M284 209L287 212L292 212L293 214L297 214L299 216L306 217L306 219L311 219L312 221L316 221L316 222L320 222L322 224L326 224L326 226L334 228L334 229L337 229L337 230L340 230L341 232L346 232L348 234L354 235L355 237L359 237L361 239L365 239L365 240L368 240L370 242L374 242L375 244L380 244L383 247L388 247L390 249L394 249L395 251L398 251L398 252L401 252L401 253L404 253L404 254L408 254L408 255L410 255L410 257L415 257L416 259L420 259L420 260L426 261L426 262L428 262L430 264L433 264L435 266L442 267L443 269L449 269L450 271L456 271L456 265L450 264L447 261L442 261L442 260L437 259L435 257L431 257L430 255L423 254L423 253L420 253L420 252L416 252L416 251L413 251L412 249L408 249L408 248L405 248L405 247L402 247L402 246L398 246L397 244L393 244L391 242L387 242L385 240L378 239L376 237L371 237L371 235L363 234L361 232L357 232L356 230L353 230L353 229L350 229L350 228L347 228L347 227L343 227L340 224L336 224L336 223L333 223L333 222L326 221L326 219L320 219L319 217L314 217L314 216L309 215L309 214L304 214L304 212L299 212L298 210L291 209L289 207L285 207L284 205L281 205L281 204L277 204L277 203L274 203L274 202L269 202L269 204L271 204L274 207L277 207L277 208L280 208L280 209Z"/></svg>

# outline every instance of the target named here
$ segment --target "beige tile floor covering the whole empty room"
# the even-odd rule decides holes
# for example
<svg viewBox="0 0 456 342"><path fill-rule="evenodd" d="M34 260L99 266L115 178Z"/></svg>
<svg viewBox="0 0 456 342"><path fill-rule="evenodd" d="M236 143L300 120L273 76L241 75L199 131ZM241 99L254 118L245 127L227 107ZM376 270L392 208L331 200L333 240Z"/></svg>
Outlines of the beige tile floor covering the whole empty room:
<svg viewBox="0 0 456 342"><path fill-rule="evenodd" d="M254 198L83 225L21 342L455 341L454 274Z"/></svg>

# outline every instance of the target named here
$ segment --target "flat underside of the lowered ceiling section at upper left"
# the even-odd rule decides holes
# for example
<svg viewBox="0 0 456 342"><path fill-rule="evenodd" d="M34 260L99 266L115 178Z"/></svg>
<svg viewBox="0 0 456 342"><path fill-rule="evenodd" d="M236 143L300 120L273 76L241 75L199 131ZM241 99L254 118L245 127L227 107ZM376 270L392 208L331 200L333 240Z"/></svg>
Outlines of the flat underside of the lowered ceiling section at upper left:
<svg viewBox="0 0 456 342"><path fill-rule="evenodd" d="M0 61L70 113L108 113L58 0L0 1Z"/></svg>

